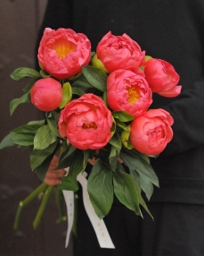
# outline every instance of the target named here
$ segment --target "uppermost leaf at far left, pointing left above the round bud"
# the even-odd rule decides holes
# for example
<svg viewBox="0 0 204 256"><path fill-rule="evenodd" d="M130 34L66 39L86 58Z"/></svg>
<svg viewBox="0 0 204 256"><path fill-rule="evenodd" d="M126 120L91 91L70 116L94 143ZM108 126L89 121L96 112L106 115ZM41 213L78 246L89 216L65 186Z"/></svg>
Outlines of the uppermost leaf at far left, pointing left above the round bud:
<svg viewBox="0 0 204 256"><path fill-rule="evenodd" d="M20 67L11 73L11 78L15 81L19 81L24 77L40 78L41 75L36 70L29 67Z"/></svg>

